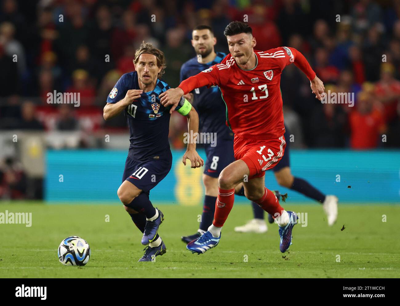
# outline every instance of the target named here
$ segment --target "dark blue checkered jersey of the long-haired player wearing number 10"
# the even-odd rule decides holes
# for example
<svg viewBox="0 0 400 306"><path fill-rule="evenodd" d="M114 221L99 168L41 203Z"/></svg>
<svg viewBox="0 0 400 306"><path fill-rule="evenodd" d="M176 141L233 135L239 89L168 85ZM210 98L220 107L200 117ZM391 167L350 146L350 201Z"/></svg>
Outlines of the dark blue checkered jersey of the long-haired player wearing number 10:
<svg viewBox="0 0 400 306"><path fill-rule="evenodd" d="M158 96L170 86L157 79L154 90L143 92L124 110L130 132L128 156L143 161L152 158L169 159L171 156L168 133L170 125L170 107L162 106ZM121 76L111 90L107 103L122 100L130 89L140 89L136 71ZM180 104L176 110L180 108Z"/></svg>

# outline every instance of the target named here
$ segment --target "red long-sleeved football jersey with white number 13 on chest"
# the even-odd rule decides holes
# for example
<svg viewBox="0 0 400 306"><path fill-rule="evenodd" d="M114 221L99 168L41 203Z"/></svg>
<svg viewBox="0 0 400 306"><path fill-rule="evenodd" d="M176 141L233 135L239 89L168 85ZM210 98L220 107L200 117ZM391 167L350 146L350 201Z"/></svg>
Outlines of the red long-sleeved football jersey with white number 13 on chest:
<svg viewBox="0 0 400 306"><path fill-rule="evenodd" d="M185 94L202 86L219 86L226 104L226 121L241 138L254 140L277 139L285 132L280 75L292 62L310 80L315 72L296 49L279 47L256 51L256 66L240 68L231 54L220 64L184 80L180 88Z"/></svg>

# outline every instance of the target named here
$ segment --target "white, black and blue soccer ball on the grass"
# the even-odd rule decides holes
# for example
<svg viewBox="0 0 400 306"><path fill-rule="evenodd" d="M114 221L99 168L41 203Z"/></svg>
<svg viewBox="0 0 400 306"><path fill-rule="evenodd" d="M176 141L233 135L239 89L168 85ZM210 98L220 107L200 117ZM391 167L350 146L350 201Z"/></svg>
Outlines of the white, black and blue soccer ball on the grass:
<svg viewBox="0 0 400 306"><path fill-rule="evenodd" d="M58 260L66 266L84 266L90 258L90 246L82 238L65 238L58 247Z"/></svg>

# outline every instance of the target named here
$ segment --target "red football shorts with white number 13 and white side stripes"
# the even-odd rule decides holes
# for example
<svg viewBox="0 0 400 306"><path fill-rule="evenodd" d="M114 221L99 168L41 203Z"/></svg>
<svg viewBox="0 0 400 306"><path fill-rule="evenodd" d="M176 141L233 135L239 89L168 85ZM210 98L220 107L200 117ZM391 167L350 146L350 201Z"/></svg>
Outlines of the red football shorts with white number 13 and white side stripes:
<svg viewBox="0 0 400 306"><path fill-rule="evenodd" d="M265 170L274 168L281 160L286 148L282 135L273 140L252 140L236 136L233 142L235 160L243 160L250 169L251 178L264 176Z"/></svg>

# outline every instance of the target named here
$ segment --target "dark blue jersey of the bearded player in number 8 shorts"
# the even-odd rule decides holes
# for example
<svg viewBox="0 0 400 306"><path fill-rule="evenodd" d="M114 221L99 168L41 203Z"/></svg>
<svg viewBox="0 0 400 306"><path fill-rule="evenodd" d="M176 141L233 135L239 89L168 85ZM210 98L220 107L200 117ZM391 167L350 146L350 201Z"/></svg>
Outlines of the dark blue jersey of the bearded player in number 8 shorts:
<svg viewBox="0 0 400 306"><path fill-rule="evenodd" d="M216 58L206 64L197 61L197 56L188 60L180 68L180 82L194 76L212 65L219 64L226 54L217 52ZM198 112L200 128L204 133L217 133L217 138L230 138L232 131L226 126L226 105L218 86L196 88L192 91L193 106Z"/></svg>

